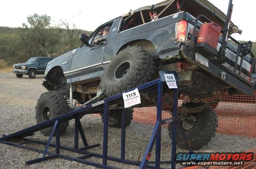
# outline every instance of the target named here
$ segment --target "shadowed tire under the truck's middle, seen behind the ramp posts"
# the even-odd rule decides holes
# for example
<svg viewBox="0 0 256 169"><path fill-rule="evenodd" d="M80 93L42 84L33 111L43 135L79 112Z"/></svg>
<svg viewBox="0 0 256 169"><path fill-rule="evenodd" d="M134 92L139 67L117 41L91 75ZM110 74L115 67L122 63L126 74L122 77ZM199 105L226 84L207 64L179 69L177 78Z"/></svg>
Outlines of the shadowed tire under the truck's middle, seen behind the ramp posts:
<svg viewBox="0 0 256 169"><path fill-rule="evenodd" d="M133 109L125 108L126 127L130 125L133 119ZM104 115L101 114L101 120L104 122ZM108 114L108 126L121 128L122 124L122 109L111 109Z"/></svg>

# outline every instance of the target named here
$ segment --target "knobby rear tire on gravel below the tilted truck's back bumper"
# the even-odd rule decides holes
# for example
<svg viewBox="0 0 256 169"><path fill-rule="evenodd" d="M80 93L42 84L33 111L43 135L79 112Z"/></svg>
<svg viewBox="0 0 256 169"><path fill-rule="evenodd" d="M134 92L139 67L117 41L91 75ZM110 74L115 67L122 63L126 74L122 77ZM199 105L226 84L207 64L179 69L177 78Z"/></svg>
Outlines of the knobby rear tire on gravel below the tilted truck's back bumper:
<svg viewBox="0 0 256 169"><path fill-rule="evenodd" d="M180 123L193 150L198 150L207 145L212 137L215 136L218 127L217 116L212 108L206 108L201 113L192 113ZM169 123L168 130L169 136L172 138L172 123ZM176 130L176 143L180 148L188 149L188 145L178 126Z"/></svg>

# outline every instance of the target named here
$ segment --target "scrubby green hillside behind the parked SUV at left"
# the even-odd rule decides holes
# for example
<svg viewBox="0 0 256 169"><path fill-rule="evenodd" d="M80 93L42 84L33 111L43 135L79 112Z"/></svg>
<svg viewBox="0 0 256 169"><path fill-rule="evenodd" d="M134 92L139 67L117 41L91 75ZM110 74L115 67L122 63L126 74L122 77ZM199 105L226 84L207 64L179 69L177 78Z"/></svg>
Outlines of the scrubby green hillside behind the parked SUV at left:
<svg viewBox="0 0 256 169"><path fill-rule="evenodd" d="M23 62L33 56L57 57L81 44L79 35L92 33L81 29L44 28L43 36L32 28L0 27L0 60L8 64Z"/></svg>

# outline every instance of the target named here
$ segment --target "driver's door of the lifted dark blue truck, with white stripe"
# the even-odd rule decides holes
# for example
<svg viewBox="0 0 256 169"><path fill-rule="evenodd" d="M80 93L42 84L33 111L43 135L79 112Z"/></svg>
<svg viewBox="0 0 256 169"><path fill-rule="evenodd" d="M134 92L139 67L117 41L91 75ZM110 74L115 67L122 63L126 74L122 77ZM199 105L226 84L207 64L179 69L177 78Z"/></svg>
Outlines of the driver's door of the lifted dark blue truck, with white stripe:
<svg viewBox="0 0 256 169"><path fill-rule="evenodd" d="M97 37L103 28L111 26L113 21L101 25L89 37L89 45L82 45L77 48L71 64L71 82L91 79L100 76L103 72L102 61L104 56L107 39L111 33L111 29L107 34L106 41L100 44L92 44L93 39Z"/></svg>

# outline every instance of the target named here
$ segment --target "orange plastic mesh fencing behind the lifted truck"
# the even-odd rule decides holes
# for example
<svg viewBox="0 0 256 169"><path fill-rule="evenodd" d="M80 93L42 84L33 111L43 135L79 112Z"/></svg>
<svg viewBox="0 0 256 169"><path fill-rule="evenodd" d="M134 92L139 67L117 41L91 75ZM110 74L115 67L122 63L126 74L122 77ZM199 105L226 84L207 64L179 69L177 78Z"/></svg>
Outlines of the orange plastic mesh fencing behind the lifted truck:
<svg viewBox="0 0 256 169"><path fill-rule="evenodd" d="M213 97L220 97L217 94ZM217 114L219 127L218 133L256 137L256 91L253 96L232 95L224 93L222 101L213 105ZM179 106L189 101L188 97L179 98ZM210 102L213 100L207 100ZM169 112L163 111L163 119L170 118ZM134 108L134 122L154 125L156 122L156 107ZM165 127L167 127L165 125Z"/></svg>

